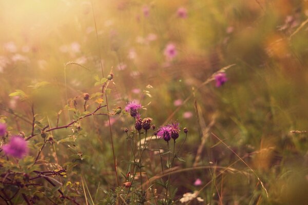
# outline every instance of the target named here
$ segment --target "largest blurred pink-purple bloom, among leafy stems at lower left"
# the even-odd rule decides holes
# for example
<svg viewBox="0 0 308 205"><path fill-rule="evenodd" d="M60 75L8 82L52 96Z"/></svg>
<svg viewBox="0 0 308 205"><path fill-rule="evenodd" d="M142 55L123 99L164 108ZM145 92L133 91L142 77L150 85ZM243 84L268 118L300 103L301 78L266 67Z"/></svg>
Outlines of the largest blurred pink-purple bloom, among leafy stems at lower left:
<svg viewBox="0 0 308 205"><path fill-rule="evenodd" d="M2 146L7 155L17 158L23 158L28 153L28 143L20 136L13 136L8 144Z"/></svg>

